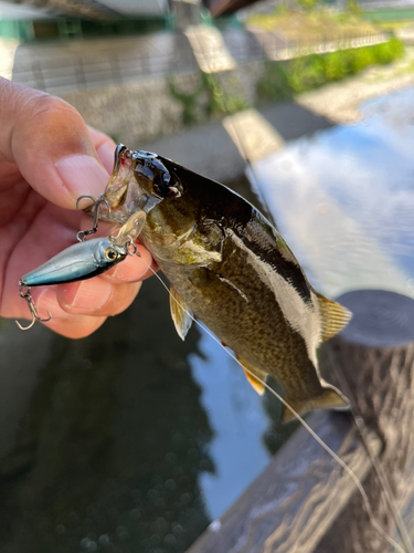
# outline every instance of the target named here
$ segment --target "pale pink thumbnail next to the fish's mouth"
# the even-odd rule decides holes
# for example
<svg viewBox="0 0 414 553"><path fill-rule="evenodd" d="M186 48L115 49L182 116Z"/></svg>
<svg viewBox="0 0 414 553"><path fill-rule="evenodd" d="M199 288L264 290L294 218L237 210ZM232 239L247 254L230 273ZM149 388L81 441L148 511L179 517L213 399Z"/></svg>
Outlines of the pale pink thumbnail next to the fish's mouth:
<svg viewBox="0 0 414 553"><path fill-rule="evenodd" d="M59 176L75 199L83 195L99 196L105 190L109 176L92 156L75 155L55 163Z"/></svg>

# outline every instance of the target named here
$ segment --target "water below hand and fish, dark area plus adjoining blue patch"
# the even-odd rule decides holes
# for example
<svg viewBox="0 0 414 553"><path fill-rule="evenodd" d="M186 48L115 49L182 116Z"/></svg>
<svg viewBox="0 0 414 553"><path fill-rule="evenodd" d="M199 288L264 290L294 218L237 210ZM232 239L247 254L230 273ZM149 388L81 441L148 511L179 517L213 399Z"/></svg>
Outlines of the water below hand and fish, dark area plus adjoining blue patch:
<svg viewBox="0 0 414 553"><path fill-rule="evenodd" d="M2 552L185 551L268 460L258 396L197 327L179 340L156 279L88 338L0 341Z"/></svg>

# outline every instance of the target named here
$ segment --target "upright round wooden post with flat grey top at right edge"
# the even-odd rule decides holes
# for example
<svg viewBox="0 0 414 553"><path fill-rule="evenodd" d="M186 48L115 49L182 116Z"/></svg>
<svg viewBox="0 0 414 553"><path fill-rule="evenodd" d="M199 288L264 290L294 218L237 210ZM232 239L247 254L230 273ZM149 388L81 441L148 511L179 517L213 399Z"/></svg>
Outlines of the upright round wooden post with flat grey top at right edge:
<svg viewBox="0 0 414 553"><path fill-rule="evenodd" d="M414 543L414 301L380 291L347 295L342 301L355 313L355 322L329 343L325 364L331 366L335 359L355 414L381 436L380 460ZM395 533L395 521L374 473L365 489L375 519ZM316 551L383 553L393 549L378 535L361 498L354 495Z"/></svg>

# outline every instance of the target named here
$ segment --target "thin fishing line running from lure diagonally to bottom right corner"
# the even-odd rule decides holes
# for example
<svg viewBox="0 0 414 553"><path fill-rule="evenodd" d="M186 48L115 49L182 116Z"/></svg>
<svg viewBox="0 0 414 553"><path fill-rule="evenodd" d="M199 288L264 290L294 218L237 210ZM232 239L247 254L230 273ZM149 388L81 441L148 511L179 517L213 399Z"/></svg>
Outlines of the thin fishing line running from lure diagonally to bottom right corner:
<svg viewBox="0 0 414 553"><path fill-rule="evenodd" d="M231 351L229 351L226 347L224 347L223 344L221 343L221 341L216 336L214 336L214 334L209 328L205 328L205 326L203 326L193 316L193 314L189 310L187 310L183 305L181 305L180 302L171 294L169 288L163 282L163 280L161 279L161 276L142 258L141 258L141 260L148 267L148 269L157 276L157 279L161 282L162 286L167 290L167 292L170 295L170 298L172 298L174 300L174 302L177 303L177 305L184 313L187 313L187 315L190 319L192 319L192 321L198 326L200 326L200 328L202 328L211 338L213 338L214 342L216 342L226 352L226 354L230 355L230 357L232 357L232 359L234 359L237 363L237 365L240 365L243 369L247 371L247 373L251 376L253 376L254 378L257 378L263 384L263 386L266 389L268 389L287 409L289 409L289 411L294 415L294 417L297 420L299 420L299 422L310 434L310 436L325 449L325 451L327 451L327 453L335 461L337 461L337 463L340 467L342 467L342 469L347 472L347 474L353 480L354 484L357 486L357 488L358 488L358 490L359 490L359 492L360 492L360 494L362 497L367 514L368 514L368 517L370 519L370 522L373 525L373 528L390 543L390 545L392 545L393 547L395 547L396 551L399 551L400 553L407 553L407 551L404 550L395 540L393 540L391 538L391 535L389 535L386 533L386 531L376 522L375 517L374 517L374 514L372 512L371 503L370 503L370 500L369 500L369 498L367 495L367 492L363 489L362 483L361 483L360 479L358 478L358 476L354 473L354 471L327 444L325 444L325 441L321 438L319 438L319 436L316 434L315 430L312 430L312 428L306 422L306 420L276 390L274 390L266 382L262 380L262 378L259 378L255 374L253 374L252 371L250 371L247 367L245 367L244 365L242 365L242 363L237 359L237 357ZM408 550L408 553L411 553L411 551L412 550Z"/></svg>

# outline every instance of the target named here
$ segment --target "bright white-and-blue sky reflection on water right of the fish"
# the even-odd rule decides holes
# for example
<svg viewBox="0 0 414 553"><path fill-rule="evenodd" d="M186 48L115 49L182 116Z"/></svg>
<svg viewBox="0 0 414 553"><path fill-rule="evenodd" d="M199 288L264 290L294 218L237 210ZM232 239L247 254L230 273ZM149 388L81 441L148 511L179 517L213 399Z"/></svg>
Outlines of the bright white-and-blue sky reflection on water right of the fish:
<svg viewBox="0 0 414 553"><path fill-rule="evenodd" d="M414 295L412 91L255 164L282 233L318 289Z"/></svg>

